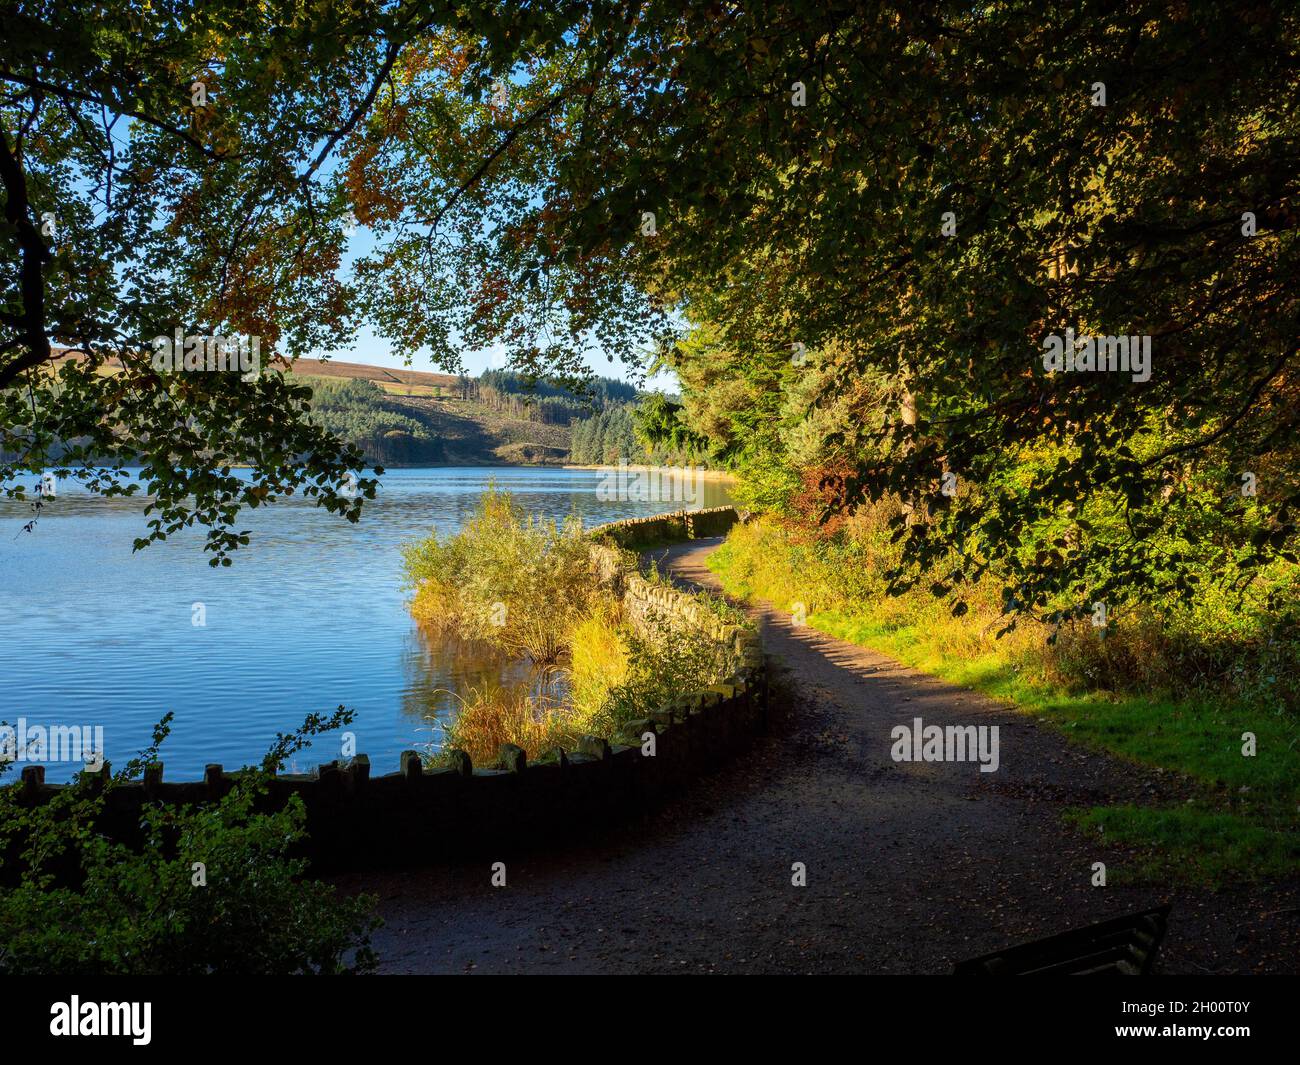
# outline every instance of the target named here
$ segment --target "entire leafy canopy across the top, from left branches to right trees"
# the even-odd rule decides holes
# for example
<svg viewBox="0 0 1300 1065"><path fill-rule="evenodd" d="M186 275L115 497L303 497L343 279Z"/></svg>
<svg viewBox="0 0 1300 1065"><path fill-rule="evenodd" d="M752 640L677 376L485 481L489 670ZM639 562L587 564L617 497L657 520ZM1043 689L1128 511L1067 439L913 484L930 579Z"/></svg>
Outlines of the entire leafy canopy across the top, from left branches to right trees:
<svg viewBox="0 0 1300 1065"><path fill-rule="evenodd" d="M282 378L136 352L365 321L452 371L671 367L755 502L893 501L894 588L941 566L954 609L989 573L1060 618L1295 558L1292 4L101 7L4 14L6 477L56 436L143 449L155 533L218 551L289 488L355 516L358 456ZM34 417L52 338L91 359Z"/></svg>

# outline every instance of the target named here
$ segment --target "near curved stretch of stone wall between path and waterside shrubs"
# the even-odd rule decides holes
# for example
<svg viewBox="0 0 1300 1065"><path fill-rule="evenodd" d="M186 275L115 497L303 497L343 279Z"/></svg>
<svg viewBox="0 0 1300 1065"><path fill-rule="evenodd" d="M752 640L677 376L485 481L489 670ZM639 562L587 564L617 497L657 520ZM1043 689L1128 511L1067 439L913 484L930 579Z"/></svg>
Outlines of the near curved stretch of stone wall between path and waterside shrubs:
<svg viewBox="0 0 1300 1065"><path fill-rule="evenodd" d="M268 805L278 809L292 795L303 800L308 856L318 871L499 858L520 845L569 841L645 813L767 728L767 670L755 628L727 624L689 593L645 580L625 553L593 544L593 562L623 596L633 623L667 622L718 641L725 675L702 677L698 690L682 692L620 735L586 736L576 750L550 752L537 762L507 744L498 758L503 769L476 769L464 752L454 752L451 766L430 770L408 750L396 772L380 776L370 775L364 754L312 774L278 775ZM21 788L25 805L36 805L65 788L101 788L108 772L105 766L82 774L78 784L47 784L43 766L26 766L10 787ZM200 782L172 783L161 765L153 766L144 780L108 792L99 828L138 840L146 802L216 800L233 780L211 765Z"/></svg>

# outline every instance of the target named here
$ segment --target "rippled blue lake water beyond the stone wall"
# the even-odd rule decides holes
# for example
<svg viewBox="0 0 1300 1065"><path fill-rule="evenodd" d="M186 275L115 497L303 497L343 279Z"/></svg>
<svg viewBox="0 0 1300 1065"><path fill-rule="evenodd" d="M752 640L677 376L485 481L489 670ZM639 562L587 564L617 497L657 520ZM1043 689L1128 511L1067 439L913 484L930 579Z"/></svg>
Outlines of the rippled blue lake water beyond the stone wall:
<svg viewBox="0 0 1300 1065"><path fill-rule="evenodd" d="M430 640L402 586L402 545L455 532L489 480L532 514L575 512L586 527L682 508L608 499L593 469L390 469L356 525L295 497L243 512L250 545L213 568L202 532L133 553L146 532L139 498L65 481L32 532L27 505L0 501L0 722L103 727L121 766L170 710L166 779L196 780L209 762L259 761L277 732L342 703L356 710L348 730L372 772L394 772L402 750L436 741L454 713L448 689L499 668ZM729 502L727 482L703 482L699 506ZM338 735L324 736L289 770L338 756ZM46 779L79 767L47 763Z"/></svg>

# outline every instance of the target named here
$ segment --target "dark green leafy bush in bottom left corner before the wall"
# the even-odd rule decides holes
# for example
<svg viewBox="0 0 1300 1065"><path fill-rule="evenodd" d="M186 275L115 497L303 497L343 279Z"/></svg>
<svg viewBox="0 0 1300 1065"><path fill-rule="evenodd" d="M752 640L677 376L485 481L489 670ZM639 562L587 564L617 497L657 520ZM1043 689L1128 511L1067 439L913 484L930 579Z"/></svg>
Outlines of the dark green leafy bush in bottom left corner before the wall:
<svg viewBox="0 0 1300 1065"><path fill-rule="evenodd" d="M170 718L170 715L169 715ZM0 974L334 974L373 967L374 900L339 897L289 857L303 839L296 796L259 813L272 769L306 737L351 719L309 718L222 800L146 805L143 847L96 831L107 796L157 758L153 745L100 792L79 785L32 809L0 791ZM195 863L203 863L203 879Z"/></svg>

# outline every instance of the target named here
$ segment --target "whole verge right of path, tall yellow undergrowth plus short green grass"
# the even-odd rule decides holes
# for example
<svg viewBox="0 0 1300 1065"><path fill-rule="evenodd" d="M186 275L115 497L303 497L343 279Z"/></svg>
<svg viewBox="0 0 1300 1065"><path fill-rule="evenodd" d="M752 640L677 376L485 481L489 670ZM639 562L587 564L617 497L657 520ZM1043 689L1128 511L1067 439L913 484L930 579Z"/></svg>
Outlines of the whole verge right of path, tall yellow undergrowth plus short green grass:
<svg viewBox="0 0 1300 1065"><path fill-rule="evenodd" d="M1078 824L1144 845L1134 875L1222 883L1300 870L1297 644L1284 620L1214 593L1190 609L1154 605L1054 631L1002 628L993 583L954 618L927 590L885 596L892 545L880 514L838 534L760 520L737 525L710 558L727 592L806 611L809 625L1041 717L1067 737L1193 782L1176 809L1093 808ZM1243 733L1257 753L1243 757ZM1200 835L1197 835L1197 826ZM1238 843L1225 847L1235 826Z"/></svg>

